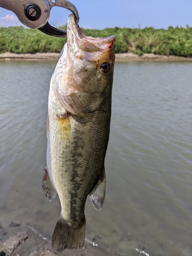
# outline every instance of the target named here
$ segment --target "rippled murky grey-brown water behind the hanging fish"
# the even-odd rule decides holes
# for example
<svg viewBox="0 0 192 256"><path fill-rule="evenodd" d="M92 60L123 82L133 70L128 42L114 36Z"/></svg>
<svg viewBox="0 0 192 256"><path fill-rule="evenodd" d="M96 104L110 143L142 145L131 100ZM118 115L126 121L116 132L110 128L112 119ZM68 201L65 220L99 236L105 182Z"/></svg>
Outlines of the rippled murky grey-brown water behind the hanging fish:
<svg viewBox="0 0 192 256"><path fill-rule="evenodd" d="M16 230L30 234L28 226L51 238L59 216L58 198L50 203L41 192L55 64L0 61L2 240ZM191 68L116 63L105 202L101 211L86 205L86 238L98 246L84 255L192 255ZM21 225L10 228L11 221ZM31 241L22 255L46 243Z"/></svg>

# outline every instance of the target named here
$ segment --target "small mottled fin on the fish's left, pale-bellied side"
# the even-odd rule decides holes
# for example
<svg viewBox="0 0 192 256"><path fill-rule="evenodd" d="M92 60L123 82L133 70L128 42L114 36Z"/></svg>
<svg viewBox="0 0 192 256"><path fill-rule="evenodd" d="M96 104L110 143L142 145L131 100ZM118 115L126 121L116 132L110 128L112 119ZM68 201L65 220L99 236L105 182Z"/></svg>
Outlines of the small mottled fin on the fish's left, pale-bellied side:
<svg viewBox="0 0 192 256"><path fill-rule="evenodd" d="M53 199L55 199L57 191L51 183L47 167L45 168L45 172L45 176L42 179L42 191L44 192L44 195L47 197L47 199L51 202Z"/></svg>

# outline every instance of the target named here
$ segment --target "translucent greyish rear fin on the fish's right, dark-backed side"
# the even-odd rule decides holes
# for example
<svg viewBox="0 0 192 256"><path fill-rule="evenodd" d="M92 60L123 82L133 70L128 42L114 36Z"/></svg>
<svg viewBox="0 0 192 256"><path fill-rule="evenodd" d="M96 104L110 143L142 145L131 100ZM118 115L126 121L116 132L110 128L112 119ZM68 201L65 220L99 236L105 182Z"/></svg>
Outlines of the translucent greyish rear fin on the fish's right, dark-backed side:
<svg viewBox="0 0 192 256"><path fill-rule="evenodd" d="M102 208L102 205L104 202L104 196L105 196L105 184L106 184L106 178L105 178L105 171L103 166L103 170L97 181L97 184L95 185L95 187L90 193L90 200L96 210L100 210Z"/></svg>

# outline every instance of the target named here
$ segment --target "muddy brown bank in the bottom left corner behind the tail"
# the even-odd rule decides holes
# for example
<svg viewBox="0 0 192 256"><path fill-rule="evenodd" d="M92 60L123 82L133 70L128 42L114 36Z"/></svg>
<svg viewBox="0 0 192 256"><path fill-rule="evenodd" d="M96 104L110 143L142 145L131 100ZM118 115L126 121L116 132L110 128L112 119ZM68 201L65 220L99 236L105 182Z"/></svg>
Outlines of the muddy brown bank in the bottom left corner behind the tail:
<svg viewBox="0 0 192 256"><path fill-rule="evenodd" d="M2 226L0 226L2 228ZM90 241L85 239L84 247L79 250L65 250L61 253L55 252L51 248L51 240L39 233L31 226L23 225L20 222L11 222L9 229L12 229L11 236L7 239L7 232L0 234L0 255L1 256L117 256L115 250L107 247L101 247L96 241L96 237ZM14 229L14 230L13 230ZM1 229L0 229L1 231ZM38 247L37 247L38 244ZM38 249L34 250L34 247ZM137 250L139 251L139 250Z"/></svg>

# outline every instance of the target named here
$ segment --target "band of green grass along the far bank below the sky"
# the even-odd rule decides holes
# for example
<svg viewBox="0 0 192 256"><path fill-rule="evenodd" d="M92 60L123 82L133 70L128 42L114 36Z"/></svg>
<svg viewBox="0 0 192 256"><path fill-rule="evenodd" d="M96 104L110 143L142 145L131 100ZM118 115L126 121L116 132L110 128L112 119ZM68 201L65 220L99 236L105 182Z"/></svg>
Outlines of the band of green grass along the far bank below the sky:
<svg viewBox="0 0 192 256"><path fill-rule="evenodd" d="M66 29L66 27L60 27ZM133 52L138 55L154 53L160 55L192 56L192 28L167 30L144 28L106 28L103 30L83 29L93 37L116 36L115 53ZM39 30L24 27L0 27L0 53L60 52L66 38L56 38Z"/></svg>

